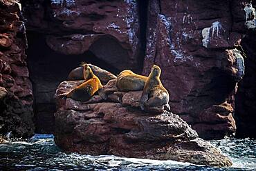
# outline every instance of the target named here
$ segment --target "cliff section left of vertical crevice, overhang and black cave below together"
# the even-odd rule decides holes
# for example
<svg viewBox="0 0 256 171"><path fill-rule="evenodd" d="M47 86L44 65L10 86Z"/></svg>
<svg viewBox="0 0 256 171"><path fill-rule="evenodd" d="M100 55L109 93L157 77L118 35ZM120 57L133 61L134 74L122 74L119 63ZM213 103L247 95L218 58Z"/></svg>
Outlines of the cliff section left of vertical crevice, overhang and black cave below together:
<svg viewBox="0 0 256 171"><path fill-rule="evenodd" d="M55 89L81 61L116 73L126 68L142 69L137 1L21 3L28 30L37 132L53 132Z"/></svg>

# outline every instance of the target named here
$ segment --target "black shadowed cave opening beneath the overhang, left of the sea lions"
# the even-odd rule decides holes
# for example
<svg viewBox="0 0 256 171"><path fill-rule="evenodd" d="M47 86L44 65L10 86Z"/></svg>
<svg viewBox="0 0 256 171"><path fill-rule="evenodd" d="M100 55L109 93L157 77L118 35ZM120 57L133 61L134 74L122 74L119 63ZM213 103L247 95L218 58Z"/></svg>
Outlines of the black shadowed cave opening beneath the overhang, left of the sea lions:
<svg viewBox="0 0 256 171"><path fill-rule="evenodd" d="M46 34L27 32L27 37L26 54L30 81L33 83L35 132L53 133L53 114L56 110L53 97L57 86L66 80L71 70L77 68L82 61L109 70L113 74L118 74L120 70L102 61L91 51L79 55L57 53L46 45Z"/></svg>

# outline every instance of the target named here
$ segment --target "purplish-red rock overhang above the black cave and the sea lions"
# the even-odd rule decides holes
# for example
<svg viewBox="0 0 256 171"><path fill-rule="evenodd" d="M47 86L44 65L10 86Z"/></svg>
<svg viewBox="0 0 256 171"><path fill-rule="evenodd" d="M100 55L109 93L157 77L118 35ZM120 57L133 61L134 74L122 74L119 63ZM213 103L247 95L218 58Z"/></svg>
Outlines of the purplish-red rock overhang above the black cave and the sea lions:
<svg viewBox="0 0 256 171"><path fill-rule="evenodd" d="M138 2L41 0L22 3L28 30L48 34L46 43L56 52L91 51L119 70L141 68Z"/></svg>

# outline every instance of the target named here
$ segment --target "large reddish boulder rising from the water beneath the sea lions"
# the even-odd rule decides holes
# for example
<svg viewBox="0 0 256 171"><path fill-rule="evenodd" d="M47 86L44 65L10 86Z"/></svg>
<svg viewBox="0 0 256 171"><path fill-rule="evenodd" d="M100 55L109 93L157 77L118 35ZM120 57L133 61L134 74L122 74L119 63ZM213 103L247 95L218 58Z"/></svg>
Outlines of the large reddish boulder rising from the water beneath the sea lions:
<svg viewBox="0 0 256 171"><path fill-rule="evenodd" d="M57 88L55 143L66 152L113 154L145 159L172 159L196 164L230 166L217 148L198 138L178 115L146 114L138 108L142 94L118 92L111 80L88 102L59 99L82 81L64 81ZM133 97L133 98L131 98Z"/></svg>

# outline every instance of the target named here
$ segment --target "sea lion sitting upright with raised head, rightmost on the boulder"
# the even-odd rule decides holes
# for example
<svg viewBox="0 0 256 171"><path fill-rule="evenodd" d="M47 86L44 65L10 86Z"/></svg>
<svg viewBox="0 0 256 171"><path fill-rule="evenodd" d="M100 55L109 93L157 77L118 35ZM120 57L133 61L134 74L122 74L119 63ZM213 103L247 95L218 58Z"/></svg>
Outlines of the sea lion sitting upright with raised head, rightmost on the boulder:
<svg viewBox="0 0 256 171"><path fill-rule="evenodd" d="M154 65L147 77L147 81L143 88L143 94L140 99L140 108L145 111L170 110L169 93L163 87L160 80L161 68Z"/></svg>

